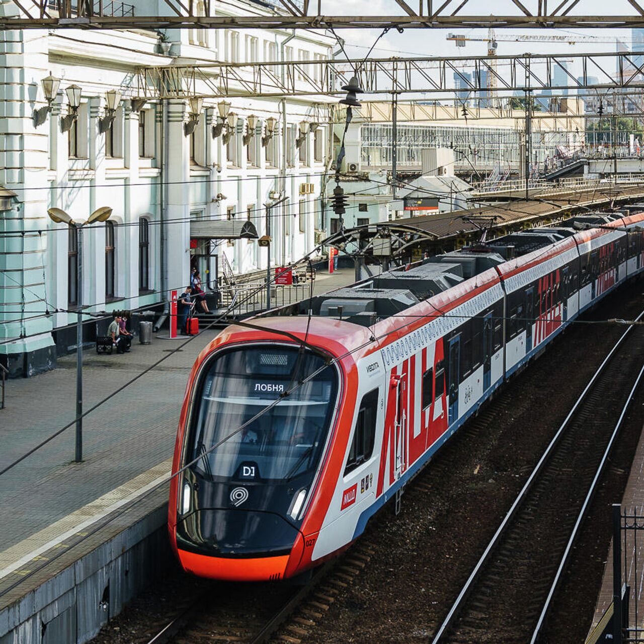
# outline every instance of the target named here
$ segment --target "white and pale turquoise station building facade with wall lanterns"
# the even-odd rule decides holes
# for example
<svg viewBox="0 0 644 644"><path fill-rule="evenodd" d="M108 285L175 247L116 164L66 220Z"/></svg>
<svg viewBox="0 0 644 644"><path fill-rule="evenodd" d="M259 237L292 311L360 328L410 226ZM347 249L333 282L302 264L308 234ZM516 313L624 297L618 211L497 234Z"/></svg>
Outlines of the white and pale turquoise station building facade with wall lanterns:
<svg viewBox="0 0 644 644"><path fill-rule="evenodd" d="M141 14L169 11L162 0L140 4L146 5L135 6ZM225 10L229 15L270 11L250 0L216 7L218 14ZM14 11L15 5L0 1L0 12ZM105 223L83 232L82 303L89 310L145 307L163 301L168 290L182 289L193 256L191 219L251 218L261 236L264 204L272 193L289 196L273 211L272 265L311 251L314 232L323 227L320 196L331 135L330 127L320 123L296 147L300 122L320 120L312 100L227 99L238 122L225 145L222 135L214 138L212 133L222 99L204 100L193 135L185 134L191 118L187 101L148 100L136 111L131 99L137 96L138 68L275 61L281 56L314 61L330 57L333 43L327 35L294 36L283 30L3 32L0 187L16 196L10 209L0 211L0 359L3 354L5 363L7 357L15 361L33 352L50 355L52 330L75 320L75 314L66 312L73 308L73 237L66 225L48 218L50 207L75 220L86 220L102 206L113 209L113 247ZM61 79L59 93L46 121L36 126L34 111L47 105L41 81L50 74ZM65 90L71 84L82 89L81 106L71 130L62 131L69 113ZM106 91L113 89L124 98L113 125L102 132ZM257 123L246 145L250 115ZM264 146L269 117L277 125ZM142 227L147 228L147 242L140 237ZM266 267L267 252L255 241L223 242L214 254L225 255L238 274ZM200 260L204 282L213 280L213 274L205 274L213 261ZM147 279L141 274L146 272ZM53 310L59 312L44 314Z"/></svg>

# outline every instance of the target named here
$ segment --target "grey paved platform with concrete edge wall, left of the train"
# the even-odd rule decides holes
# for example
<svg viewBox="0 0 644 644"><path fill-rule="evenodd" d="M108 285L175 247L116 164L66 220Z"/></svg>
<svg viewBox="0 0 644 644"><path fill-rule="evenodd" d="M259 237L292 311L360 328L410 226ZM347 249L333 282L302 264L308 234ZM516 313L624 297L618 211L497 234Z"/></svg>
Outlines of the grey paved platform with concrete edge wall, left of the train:
<svg viewBox="0 0 644 644"><path fill-rule="evenodd" d="M332 290L352 283L354 270L320 278L316 287ZM1 477L0 644L88 641L172 564L160 484L187 377L218 332L203 330L174 353L186 338L134 339L126 354L84 351L85 410L167 359L83 419L82 463L73 462L72 425ZM0 469L73 421L75 368L68 355L51 372L8 382Z"/></svg>

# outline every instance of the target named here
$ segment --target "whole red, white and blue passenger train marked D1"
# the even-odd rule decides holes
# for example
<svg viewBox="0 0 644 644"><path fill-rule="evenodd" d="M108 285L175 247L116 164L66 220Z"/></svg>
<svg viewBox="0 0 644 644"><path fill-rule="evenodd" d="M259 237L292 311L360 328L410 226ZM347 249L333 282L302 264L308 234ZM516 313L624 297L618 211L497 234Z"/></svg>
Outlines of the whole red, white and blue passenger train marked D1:
<svg viewBox="0 0 644 644"><path fill-rule="evenodd" d="M181 565L275 580L336 555L507 377L643 269L632 207L228 327L194 364L176 437L173 473L194 461L169 499Z"/></svg>

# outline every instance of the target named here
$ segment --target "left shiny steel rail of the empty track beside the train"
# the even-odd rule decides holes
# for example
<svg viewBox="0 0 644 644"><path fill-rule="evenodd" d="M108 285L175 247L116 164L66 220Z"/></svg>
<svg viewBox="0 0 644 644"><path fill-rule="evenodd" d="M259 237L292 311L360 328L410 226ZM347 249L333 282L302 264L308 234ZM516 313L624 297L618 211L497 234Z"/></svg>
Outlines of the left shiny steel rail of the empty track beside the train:
<svg viewBox="0 0 644 644"><path fill-rule="evenodd" d="M644 317L644 310L635 318L635 321L639 321L642 317ZM486 549L484 550L483 554L480 556L480 559L478 560L477 564L475 565L473 571L470 573L468 580L465 582L465 585L462 587L461 591L459 592L459 596L456 598L455 602L451 606L450 612L448 612L445 620L443 623L440 625L440 629L438 630L437 634L434 636L432 639L432 644L438 644L441 640L442 636L447 632L447 630L451 627L453 624L453 621L456 619L457 615L460 612L460 609L462 608L462 603L466 599L466 597L469 594L469 591L471 590L473 584L476 582L478 579L478 576L480 572L482 571L482 568L484 565L488 562L489 557L491 553L494 551L495 547L497 547L498 542L500 541L500 538L504 535L506 532L507 527L509 526L511 520L514 518L516 515L516 512L518 511L519 506L522 504L524 499L527 496L527 493L531 490L536 477L541 473L542 469L544 468L545 463L551 456L551 453L553 452L554 448L556 445L559 443L560 439L564 435L565 430L567 429L569 423L574 417L574 414L576 413L577 409L579 406L585 401L585 398L588 394L588 392L591 390L592 385L595 383L595 381L600 377L601 373L605 369L605 367L609 364L611 361L612 356L615 354L615 352L618 350L620 347L621 343L626 339L627 336L632 332L632 330L636 328L636 325L632 325L625 332L620 336L618 341L615 343L615 345L612 347L611 351L609 354L603 359L601 365L597 368L596 372L592 375L590 381L588 384L585 386L583 392L580 394L578 399L573 405L573 408L568 412L568 415L565 417L564 422L562 422L560 428L556 431L556 434L554 435L553 439L550 441L548 444L547 448L545 449L544 453L542 454L542 457L539 459L538 463L535 466L535 469L533 469L532 473L528 477L526 483L524 484L523 488L521 491L518 493L517 497L515 498L515 501L513 502L512 506L510 509L507 511L506 516L504 516L504 519L500 523L500 526L498 526L497 531L494 533L493 537L491 538L489 544L487 545Z"/></svg>

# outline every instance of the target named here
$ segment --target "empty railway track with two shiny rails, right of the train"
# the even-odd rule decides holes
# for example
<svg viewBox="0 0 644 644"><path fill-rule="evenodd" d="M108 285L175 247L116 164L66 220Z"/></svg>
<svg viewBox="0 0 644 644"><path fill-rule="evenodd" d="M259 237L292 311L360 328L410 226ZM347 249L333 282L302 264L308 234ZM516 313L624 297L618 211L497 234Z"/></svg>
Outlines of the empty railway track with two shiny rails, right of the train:
<svg viewBox="0 0 644 644"><path fill-rule="evenodd" d="M642 319L644 311L639 314ZM631 326L592 376L504 516L433 644L535 644L578 527L644 374Z"/></svg>

